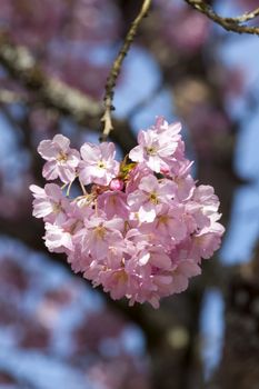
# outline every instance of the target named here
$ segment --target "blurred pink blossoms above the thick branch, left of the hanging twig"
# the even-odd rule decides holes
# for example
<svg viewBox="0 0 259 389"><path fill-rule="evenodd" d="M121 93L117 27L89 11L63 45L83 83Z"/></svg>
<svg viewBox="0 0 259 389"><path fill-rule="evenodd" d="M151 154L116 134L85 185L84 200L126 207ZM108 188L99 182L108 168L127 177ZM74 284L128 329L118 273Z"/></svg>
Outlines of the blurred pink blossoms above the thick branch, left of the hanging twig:
<svg viewBox="0 0 259 389"><path fill-rule="evenodd" d="M1 0L0 24L14 43L40 59L48 76L101 98L109 69L107 61L93 59L92 51L120 37L120 10L114 1Z"/></svg>

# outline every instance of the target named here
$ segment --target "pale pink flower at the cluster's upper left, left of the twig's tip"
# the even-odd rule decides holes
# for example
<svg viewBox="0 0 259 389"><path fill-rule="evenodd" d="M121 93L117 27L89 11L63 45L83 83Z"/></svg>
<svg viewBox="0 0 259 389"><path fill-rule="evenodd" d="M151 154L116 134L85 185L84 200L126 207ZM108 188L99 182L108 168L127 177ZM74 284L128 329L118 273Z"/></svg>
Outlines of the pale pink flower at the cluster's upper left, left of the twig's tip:
<svg viewBox="0 0 259 389"><path fill-rule="evenodd" d="M76 168L80 161L77 150L69 148L70 140L62 134L54 136L53 140L42 140L38 152L48 162L43 166L43 177L56 180L58 177L64 183L74 180Z"/></svg>

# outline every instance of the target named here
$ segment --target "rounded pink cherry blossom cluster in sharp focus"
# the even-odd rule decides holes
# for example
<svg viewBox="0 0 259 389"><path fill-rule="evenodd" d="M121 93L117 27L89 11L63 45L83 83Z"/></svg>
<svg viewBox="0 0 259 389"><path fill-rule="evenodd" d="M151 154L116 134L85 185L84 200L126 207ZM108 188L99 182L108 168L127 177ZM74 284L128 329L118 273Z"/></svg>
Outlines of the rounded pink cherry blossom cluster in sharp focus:
<svg viewBox="0 0 259 389"><path fill-rule="evenodd" d="M39 144L43 177L62 182L30 187L46 246L113 299L158 308L161 297L187 289L201 258L220 246L219 200L192 179L180 130L157 118L121 162L112 142L84 143L78 152L57 134ZM76 198L72 183L82 191Z"/></svg>

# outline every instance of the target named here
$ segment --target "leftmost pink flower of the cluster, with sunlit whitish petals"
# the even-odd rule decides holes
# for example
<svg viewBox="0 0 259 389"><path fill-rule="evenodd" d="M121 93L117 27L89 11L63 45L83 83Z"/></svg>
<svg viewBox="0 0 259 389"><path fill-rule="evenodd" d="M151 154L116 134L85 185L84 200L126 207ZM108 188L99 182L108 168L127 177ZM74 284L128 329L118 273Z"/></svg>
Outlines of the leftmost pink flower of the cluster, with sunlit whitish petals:
<svg viewBox="0 0 259 389"><path fill-rule="evenodd" d="M32 184L30 190L34 197L32 215L36 218L43 218L44 221L58 225L68 219L67 212L70 209L70 203L59 186L47 183L42 189Z"/></svg>

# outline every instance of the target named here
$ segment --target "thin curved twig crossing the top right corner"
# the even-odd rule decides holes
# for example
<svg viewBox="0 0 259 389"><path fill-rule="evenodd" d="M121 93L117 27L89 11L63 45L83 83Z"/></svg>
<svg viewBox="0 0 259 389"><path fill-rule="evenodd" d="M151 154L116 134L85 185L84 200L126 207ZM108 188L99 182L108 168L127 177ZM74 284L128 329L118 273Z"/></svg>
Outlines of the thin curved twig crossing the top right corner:
<svg viewBox="0 0 259 389"><path fill-rule="evenodd" d="M225 30L233 31L238 33L250 33L259 36L259 27L257 26L243 26L256 17L259 16L259 8L251 12L246 12L236 18L223 18L215 12L211 6L206 3L203 0L185 0L189 6L195 8L197 11L206 14L209 19L220 24Z"/></svg>

